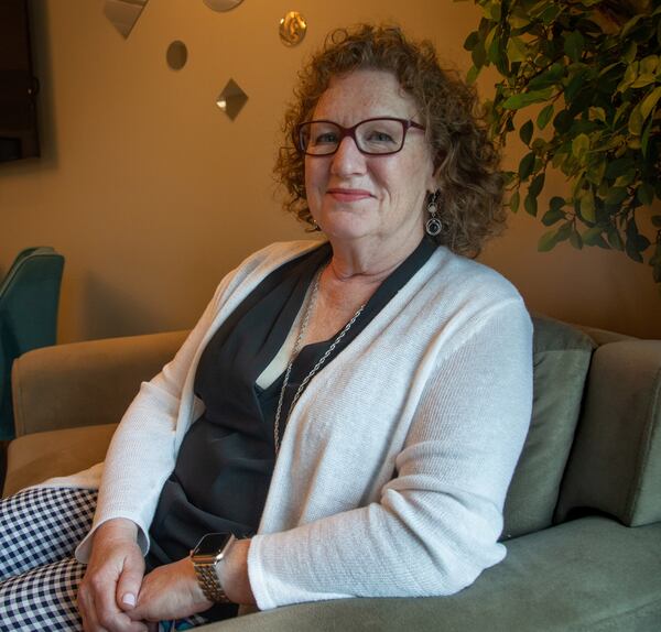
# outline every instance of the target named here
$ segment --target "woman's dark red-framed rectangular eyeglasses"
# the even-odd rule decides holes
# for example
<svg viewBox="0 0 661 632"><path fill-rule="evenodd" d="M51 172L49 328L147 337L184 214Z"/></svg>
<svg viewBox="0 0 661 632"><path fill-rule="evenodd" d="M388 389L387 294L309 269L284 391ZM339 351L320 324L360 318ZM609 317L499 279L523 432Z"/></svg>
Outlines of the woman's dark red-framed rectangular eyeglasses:
<svg viewBox="0 0 661 632"><path fill-rule="evenodd" d="M296 128L297 149L306 155L328 156L349 137L364 154L390 155L401 151L411 128L424 130L420 123L391 117L367 119L353 128L343 128L333 121L307 121Z"/></svg>

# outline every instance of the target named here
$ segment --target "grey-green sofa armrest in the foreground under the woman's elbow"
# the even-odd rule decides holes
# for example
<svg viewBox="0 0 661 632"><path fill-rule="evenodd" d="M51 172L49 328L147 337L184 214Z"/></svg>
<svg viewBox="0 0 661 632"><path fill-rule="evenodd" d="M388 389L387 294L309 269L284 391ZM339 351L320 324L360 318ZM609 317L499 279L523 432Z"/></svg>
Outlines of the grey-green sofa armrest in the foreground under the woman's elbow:
<svg viewBox="0 0 661 632"><path fill-rule="evenodd" d="M655 632L661 524L585 517L508 542L508 556L451 597L345 599L278 608L201 632ZM652 554L654 552L654 554Z"/></svg>

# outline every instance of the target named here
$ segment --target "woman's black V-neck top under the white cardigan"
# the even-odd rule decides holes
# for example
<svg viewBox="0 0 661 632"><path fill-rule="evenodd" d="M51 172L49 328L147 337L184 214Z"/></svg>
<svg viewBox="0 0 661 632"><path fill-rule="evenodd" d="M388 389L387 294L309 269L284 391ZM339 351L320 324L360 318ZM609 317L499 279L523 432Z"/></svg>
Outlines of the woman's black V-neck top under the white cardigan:
<svg viewBox="0 0 661 632"><path fill-rule="evenodd" d="M423 239L379 286L323 370L347 347L435 250ZM181 559L206 533L257 531L275 462L273 428L284 374L268 389L256 380L284 344L310 283L330 246L269 274L223 323L203 351L195 394L205 413L186 433L150 529L148 566ZM281 414L281 432L302 380L335 340L307 345L296 357Z"/></svg>

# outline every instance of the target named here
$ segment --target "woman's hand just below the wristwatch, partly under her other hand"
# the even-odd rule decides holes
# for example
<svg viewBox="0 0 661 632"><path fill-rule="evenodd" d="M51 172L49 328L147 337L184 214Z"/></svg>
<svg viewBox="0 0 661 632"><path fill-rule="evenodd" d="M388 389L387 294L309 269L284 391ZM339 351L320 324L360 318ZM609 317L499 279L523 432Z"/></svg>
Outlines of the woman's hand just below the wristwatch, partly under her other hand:
<svg viewBox="0 0 661 632"><path fill-rule="evenodd" d="M138 606L128 614L137 621L183 619L213 606L197 582L189 557L159 566L147 575Z"/></svg>

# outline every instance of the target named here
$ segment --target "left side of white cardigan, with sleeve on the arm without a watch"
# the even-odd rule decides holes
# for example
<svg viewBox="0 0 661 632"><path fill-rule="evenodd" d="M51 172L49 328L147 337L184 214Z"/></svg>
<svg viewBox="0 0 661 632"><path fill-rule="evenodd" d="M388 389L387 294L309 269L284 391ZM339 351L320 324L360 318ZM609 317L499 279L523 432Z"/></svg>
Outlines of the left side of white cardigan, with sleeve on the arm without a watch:
<svg viewBox="0 0 661 632"><path fill-rule="evenodd" d="M93 527L76 548L78 562L87 563L91 535L113 517L126 517L138 525L138 543L147 554L149 527L165 480L174 469L178 440L187 429L177 428L185 384L218 313L230 297L246 295L274 268L318 246L318 241L277 242L252 253L223 279L174 359L155 378L142 383L108 448ZM204 404L188 394L194 400L194 421L204 412Z"/></svg>

